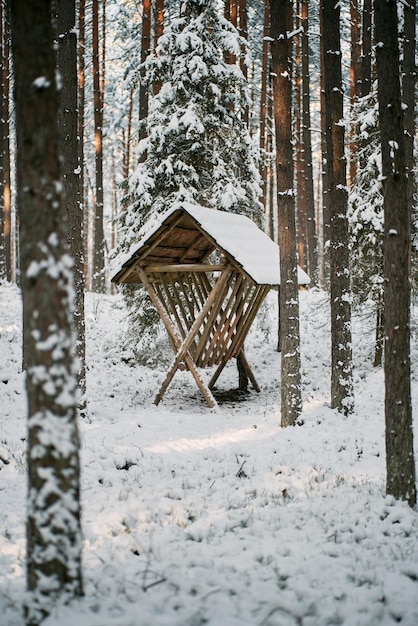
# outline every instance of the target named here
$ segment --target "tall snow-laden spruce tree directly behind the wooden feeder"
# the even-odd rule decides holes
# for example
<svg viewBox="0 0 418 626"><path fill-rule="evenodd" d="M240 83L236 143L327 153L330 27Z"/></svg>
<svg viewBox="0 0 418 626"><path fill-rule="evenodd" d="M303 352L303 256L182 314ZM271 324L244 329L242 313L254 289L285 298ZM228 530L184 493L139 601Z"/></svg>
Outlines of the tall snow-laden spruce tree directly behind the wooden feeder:
<svg viewBox="0 0 418 626"><path fill-rule="evenodd" d="M128 182L119 251L138 240L152 216L182 201L261 223L258 168L241 118L248 85L239 65L224 60L226 53L239 58L245 46L217 0L186 0L147 58L145 80L150 91L159 89L150 97L147 136ZM124 294L131 339L144 343L145 332L156 332L153 310L141 289L127 286Z"/></svg>

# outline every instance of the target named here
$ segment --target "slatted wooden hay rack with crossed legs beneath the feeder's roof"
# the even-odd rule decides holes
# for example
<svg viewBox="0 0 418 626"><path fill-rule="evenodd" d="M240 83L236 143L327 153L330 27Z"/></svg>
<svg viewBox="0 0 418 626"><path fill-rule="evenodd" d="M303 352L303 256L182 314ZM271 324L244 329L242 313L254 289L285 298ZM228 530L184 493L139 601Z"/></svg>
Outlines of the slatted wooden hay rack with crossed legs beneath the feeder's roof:
<svg viewBox="0 0 418 626"><path fill-rule="evenodd" d="M209 407L217 406L212 389L227 362L239 357L254 389L260 391L243 345L269 287L254 285L230 264L136 266L166 327L175 353L154 400L158 404L175 373L187 368ZM217 365L209 384L198 367Z"/></svg>

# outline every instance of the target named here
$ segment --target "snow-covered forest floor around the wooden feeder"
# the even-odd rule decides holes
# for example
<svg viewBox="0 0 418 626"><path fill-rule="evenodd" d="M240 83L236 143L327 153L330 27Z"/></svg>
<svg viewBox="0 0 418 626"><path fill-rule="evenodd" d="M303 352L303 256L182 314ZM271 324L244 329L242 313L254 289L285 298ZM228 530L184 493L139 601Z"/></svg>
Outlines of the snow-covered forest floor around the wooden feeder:
<svg viewBox="0 0 418 626"><path fill-rule="evenodd" d="M326 298L301 293L303 424L281 429L271 311L247 342L260 394L211 411L182 373L155 407L164 367L132 366L119 347L119 297L88 295L85 597L57 607L45 626L418 624L418 511L384 494L383 377L371 365L372 324L355 320L356 412L344 419L328 406ZM3 285L2 626L24 623L20 336L19 293ZM416 329L412 360L416 422ZM236 386L235 366L218 382Z"/></svg>

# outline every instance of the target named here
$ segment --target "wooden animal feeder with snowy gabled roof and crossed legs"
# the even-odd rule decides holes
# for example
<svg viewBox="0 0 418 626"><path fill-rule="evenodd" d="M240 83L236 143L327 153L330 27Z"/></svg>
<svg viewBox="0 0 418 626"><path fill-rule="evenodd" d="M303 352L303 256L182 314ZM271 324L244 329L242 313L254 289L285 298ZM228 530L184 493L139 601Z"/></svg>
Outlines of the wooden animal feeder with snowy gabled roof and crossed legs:
<svg viewBox="0 0 418 626"><path fill-rule="evenodd" d="M298 269L300 284L309 277ZM142 283L166 327L175 359L154 400L174 374L188 369L209 407L212 389L232 358L260 391L244 341L264 298L280 284L279 248L250 219L181 203L159 216L112 282ZM199 368L217 366L207 385Z"/></svg>

